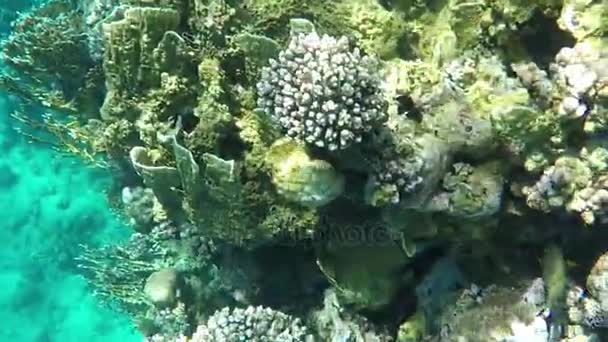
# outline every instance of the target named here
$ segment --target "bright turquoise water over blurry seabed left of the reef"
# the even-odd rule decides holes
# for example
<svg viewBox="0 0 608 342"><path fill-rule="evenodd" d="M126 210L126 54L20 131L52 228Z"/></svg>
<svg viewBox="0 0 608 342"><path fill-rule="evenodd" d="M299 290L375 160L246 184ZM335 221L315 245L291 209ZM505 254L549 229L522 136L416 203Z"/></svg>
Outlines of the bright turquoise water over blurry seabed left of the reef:
<svg viewBox="0 0 608 342"><path fill-rule="evenodd" d="M80 244L130 234L103 194L110 175L28 144L9 107L0 93L0 341L141 341L96 301L73 261Z"/></svg>

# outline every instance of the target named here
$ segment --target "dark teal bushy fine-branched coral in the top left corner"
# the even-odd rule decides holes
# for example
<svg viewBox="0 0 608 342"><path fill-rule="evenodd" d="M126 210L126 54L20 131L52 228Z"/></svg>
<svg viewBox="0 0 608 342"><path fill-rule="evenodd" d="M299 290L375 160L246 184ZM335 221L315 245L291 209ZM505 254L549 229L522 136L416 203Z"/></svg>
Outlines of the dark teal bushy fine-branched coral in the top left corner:
<svg viewBox="0 0 608 342"><path fill-rule="evenodd" d="M93 116L103 79L87 46L88 28L69 1L21 15L2 41L0 87L47 108Z"/></svg>

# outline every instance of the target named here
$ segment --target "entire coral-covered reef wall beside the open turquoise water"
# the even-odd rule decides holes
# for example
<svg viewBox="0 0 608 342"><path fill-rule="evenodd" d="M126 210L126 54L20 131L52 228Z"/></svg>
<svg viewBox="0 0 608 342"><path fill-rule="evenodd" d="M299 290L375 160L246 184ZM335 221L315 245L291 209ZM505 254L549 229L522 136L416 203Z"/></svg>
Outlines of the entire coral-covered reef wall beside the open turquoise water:
<svg viewBox="0 0 608 342"><path fill-rule="evenodd" d="M51 0L0 87L115 171L80 266L150 341L593 341L606 8Z"/></svg>

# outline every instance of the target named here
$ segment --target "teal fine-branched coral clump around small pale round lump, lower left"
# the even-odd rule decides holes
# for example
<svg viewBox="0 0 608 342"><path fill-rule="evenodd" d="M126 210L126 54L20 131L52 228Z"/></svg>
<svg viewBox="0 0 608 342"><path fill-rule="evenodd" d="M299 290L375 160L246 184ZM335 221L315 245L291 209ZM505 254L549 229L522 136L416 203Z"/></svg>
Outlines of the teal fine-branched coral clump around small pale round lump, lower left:
<svg viewBox="0 0 608 342"><path fill-rule="evenodd" d="M124 245L84 247L78 262L95 294L132 315L144 334L175 336L188 331L188 317L199 309L186 294L192 277L205 279L199 295L206 298L229 281L210 263L214 250L209 239L189 233L188 225L164 223L133 234Z"/></svg>

